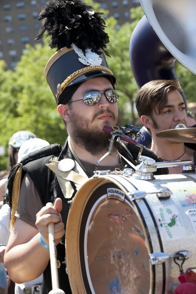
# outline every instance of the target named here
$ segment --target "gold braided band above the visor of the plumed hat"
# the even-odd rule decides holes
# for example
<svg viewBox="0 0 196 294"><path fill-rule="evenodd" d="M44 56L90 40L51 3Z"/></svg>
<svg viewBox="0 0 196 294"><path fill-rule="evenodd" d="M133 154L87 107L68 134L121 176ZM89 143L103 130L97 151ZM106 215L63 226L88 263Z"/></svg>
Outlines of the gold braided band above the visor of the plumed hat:
<svg viewBox="0 0 196 294"><path fill-rule="evenodd" d="M112 71L110 71L108 68L106 68L105 66L101 66L101 65L94 65L94 66L88 66L86 68L83 68L81 70L78 70L74 73L72 73L70 76L68 76L66 78L66 80L64 80L64 82L61 84L61 92L58 94L57 98L56 98L56 103L58 104L58 99L60 97L60 95L63 93L63 91L65 90L65 88L71 83L73 82L73 80L75 78L77 78L78 76L84 74L84 73L90 73L90 72L94 72L94 71L97 71L97 70L102 70L106 73L109 73L109 74L114 74Z"/></svg>

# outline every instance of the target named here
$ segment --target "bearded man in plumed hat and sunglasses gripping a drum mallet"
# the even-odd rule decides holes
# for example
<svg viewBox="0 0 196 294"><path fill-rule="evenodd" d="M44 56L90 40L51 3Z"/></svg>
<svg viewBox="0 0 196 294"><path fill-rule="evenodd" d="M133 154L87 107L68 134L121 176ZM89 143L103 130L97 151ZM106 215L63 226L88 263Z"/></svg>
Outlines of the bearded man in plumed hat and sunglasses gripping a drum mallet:
<svg viewBox="0 0 196 294"><path fill-rule="evenodd" d="M119 95L115 90L116 78L104 55L108 35L93 7L82 0L50 0L39 19L43 19L43 24L38 39L47 31L51 36L50 47L57 49L46 65L45 75L69 139L63 147L53 145L31 153L12 170L8 182L12 230L5 264L17 283L35 279L44 272L43 293L48 293L51 290L48 225L54 223L60 288L70 294L63 237L70 200L93 175L98 159L108 151L111 136L102 128L118 123ZM99 169L122 170L129 167L127 159L136 165L138 147L127 148L117 144ZM146 148L142 154L159 161ZM46 206L54 200L53 207Z"/></svg>

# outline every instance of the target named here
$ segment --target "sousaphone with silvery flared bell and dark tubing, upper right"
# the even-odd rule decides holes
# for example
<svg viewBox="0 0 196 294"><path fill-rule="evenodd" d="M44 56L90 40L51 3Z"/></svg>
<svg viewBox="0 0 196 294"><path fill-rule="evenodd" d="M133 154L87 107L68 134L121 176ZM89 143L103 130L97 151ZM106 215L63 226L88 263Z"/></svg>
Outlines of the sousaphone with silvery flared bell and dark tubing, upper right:
<svg viewBox="0 0 196 294"><path fill-rule="evenodd" d="M140 0L140 3L146 16L134 29L129 46L138 87L151 80L173 79L186 102L174 63L177 59L196 74L196 0ZM151 140L144 129L142 133ZM138 143L145 145L140 139Z"/></svg>

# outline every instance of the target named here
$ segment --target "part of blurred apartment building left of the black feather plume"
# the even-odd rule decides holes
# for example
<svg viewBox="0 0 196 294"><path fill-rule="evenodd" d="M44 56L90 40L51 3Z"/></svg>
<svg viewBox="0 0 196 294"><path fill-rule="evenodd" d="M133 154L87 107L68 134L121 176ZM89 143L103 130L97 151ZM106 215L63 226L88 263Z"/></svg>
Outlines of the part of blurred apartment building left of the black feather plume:
<svg viewBox="0 0 196 294"><path fill-rule="evenodd" d="M0 59L14 69L28 43L34 45L41 22L37 19L46 0L0 0Z"/></svg>

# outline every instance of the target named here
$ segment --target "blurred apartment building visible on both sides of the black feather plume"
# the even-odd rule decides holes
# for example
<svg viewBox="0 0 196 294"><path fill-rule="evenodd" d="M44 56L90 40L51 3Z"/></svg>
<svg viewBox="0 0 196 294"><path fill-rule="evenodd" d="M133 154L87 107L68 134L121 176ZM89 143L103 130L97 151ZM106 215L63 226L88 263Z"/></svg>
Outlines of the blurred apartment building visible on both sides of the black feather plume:
<svg viewBox="0 0 196 294"><path fill-rule="evenodd" d="M130 8L137 6L139 0L97 0L100 6L109 10L108 16L118 20L116 29L130 21ZM35 45L40 28L38 16L46 0L0 0L0 59L5 60L8 69L14 69L25 45Z"/></svg>

